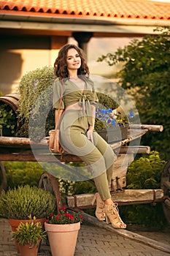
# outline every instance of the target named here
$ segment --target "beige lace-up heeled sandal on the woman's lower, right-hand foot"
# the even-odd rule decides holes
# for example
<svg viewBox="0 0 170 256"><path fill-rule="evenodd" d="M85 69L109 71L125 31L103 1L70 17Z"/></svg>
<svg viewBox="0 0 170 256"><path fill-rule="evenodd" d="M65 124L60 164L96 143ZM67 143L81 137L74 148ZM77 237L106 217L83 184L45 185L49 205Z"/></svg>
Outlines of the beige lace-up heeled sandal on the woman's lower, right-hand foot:
<svg viewBox="0 0 170 256"><path fill-rule="evenodd" d="M104 212L106 214L106 222L107 224L112 223L112 227L115 228L126 228L125 223L120 218L117 203L113 203L112 205L105 205Z"/></svg>

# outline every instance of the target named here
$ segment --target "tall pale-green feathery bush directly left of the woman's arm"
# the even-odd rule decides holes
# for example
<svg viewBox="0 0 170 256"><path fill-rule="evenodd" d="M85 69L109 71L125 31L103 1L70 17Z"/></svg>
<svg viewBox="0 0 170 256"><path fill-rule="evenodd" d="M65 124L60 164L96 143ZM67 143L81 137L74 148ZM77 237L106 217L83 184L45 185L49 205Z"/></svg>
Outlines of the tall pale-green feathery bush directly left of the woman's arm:
<svg viewBox="0 0 170 256"><path fill-rule="evenodd" d="M50 129L54 128L54 110L52 109L54 78L53 67L35 69L21 78L19 83L20 107L18 108L20 126L16 133L18 137L28 137L28 126L30 126L30 137L34 140L40 140L44 135L48 135ZM46 113L47 110L49 113ZM30 116L31 123L29 124ZM47 116L47 121L44 131L42 124L45 116Z"/></svg>

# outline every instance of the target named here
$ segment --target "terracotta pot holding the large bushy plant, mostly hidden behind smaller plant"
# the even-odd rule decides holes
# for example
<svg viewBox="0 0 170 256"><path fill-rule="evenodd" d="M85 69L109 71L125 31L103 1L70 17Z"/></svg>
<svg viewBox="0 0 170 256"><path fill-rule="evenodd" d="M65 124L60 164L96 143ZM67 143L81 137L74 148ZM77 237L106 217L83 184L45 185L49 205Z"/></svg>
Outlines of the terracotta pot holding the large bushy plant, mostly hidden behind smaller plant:
<svg viewBox="0 0 170 256"><path fill-rule="evenodd" d="M32 222L32 219L9 219L9 224L11 225L12 231L16 231L17 227L20 225L20 222ZM45 226L45 218L35 219L34 222L40 222L42 227ZM17 247L17 251L20 252L19 244L15 239L15 246Z"/></svg>

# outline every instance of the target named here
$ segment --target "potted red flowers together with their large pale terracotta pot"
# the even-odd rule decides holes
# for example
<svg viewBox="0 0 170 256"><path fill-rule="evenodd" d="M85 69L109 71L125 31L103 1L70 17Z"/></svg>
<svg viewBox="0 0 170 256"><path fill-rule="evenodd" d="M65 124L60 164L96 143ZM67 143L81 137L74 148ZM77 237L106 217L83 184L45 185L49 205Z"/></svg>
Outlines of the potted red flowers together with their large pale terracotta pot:
<svg viewBox="0 0 170 256"><path fill-rule="evenodd" d="M65 207L58 214L50 214L45 221L50 249L53 256L74 256L82 215L69 212Z"/></svg>

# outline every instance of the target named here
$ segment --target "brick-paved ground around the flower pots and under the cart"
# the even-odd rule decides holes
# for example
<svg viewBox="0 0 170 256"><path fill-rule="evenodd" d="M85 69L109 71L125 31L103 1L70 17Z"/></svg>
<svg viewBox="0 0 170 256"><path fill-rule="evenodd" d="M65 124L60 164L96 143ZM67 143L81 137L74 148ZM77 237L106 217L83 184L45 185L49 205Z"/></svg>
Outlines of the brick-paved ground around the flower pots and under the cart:
<svg viewBox="0 0 170 256"><path fill-rule="evenodd" d="M148 235L148 233L143 234L144 237ZM157 241L164 241L165 246L170 244L170 233L166 233L164 237L163 233L152 233L152 239L154 238ZM134 241L85 222L80 228L74 256L168 256L169 254L170 251L163 252L143 244L142 241ZM0 219L0 256L18 256L7 219ZM51 256L50 246L42 244L38 256Z"/></svg>

